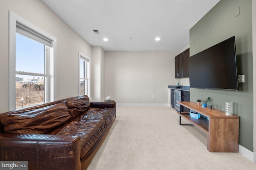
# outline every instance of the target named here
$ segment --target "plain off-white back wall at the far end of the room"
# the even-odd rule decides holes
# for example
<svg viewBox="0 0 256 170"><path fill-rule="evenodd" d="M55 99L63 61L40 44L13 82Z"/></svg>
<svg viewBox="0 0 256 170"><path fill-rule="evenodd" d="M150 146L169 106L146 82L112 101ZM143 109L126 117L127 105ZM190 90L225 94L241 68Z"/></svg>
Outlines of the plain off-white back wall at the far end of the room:
<svg viewBox="0 0 256 170"><path fill-rule="evenodd" d="M176 85L174 57L180 51L106 51L105 96L117 104L168 104ZM154 98L152 98L154 95Z"/></svg>

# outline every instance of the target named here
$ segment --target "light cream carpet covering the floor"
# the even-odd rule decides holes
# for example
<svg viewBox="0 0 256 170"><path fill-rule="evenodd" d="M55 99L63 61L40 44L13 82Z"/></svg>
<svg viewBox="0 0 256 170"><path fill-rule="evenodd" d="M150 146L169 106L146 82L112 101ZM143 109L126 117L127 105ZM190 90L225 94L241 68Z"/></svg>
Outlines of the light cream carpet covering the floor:
<svg viewBox="0 0 256 170"><path fill-rule="evenodd" d="M206 143L197 127L180 126L170 107L118 106L88 170L256 170L239 153L208 152Z"/></svg>

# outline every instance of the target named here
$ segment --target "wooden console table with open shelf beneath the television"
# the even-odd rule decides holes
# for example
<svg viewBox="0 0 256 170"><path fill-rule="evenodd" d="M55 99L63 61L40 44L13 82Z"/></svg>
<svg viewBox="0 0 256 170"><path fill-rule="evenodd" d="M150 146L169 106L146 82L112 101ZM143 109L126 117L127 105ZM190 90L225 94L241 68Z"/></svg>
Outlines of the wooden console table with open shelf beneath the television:
<svg viewBox="0 0 256 170"><path fill-rule="evenodd" d="M198 106L196 102L178 102L181 106L196 111L207 118L195 119L188 112L177 112L178 115L199 127L207 134L209 152L238 152L239 116L226 115L224 111ZM181 123L180 123L181 125Z"/></svg>

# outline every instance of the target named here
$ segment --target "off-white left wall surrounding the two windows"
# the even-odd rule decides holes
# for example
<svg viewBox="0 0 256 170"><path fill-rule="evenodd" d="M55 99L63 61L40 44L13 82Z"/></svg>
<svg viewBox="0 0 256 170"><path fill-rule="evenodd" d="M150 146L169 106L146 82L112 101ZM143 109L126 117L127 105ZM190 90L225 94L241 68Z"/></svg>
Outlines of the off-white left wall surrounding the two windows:
<svg viewBox="0 0 256 170"><path fill-rule="evenodd" d="M40 0L0 2L0 113L8 111L8 11L57 38L57 96L78 96L78 51L91 57L91 45Z"/></svg>

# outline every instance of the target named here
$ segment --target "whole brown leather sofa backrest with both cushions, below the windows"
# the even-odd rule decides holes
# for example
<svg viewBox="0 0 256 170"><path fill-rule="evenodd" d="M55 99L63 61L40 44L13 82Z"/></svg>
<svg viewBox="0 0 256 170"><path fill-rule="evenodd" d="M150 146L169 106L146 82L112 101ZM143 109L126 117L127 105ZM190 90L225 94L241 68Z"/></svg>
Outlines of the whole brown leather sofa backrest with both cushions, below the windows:
<svg viewBox="0 0 256 170"><path fill-rule="evenodd" d="M1 113L0 133L47 133L47 131L78 115L78 111L85 111L89 107L88 96L76 96ZM72 115L72 113L74 114ZM40 120L41 123L39 123ZM35 122L37 123L34 124Z"/></svg>

